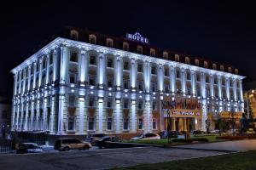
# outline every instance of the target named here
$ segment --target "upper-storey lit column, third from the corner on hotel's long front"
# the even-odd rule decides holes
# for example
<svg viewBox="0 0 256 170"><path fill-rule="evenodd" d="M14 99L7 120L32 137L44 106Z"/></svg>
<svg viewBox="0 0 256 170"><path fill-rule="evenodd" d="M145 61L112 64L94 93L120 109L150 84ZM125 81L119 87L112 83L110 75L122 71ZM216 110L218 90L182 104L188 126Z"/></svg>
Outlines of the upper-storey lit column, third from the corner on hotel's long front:
<svg viewBox="0 0 256 170"><path fill-rule="evenodd" d="M99 88L104 88L106 82L106 55L98 54L97 57L97 84Z"/></svg>

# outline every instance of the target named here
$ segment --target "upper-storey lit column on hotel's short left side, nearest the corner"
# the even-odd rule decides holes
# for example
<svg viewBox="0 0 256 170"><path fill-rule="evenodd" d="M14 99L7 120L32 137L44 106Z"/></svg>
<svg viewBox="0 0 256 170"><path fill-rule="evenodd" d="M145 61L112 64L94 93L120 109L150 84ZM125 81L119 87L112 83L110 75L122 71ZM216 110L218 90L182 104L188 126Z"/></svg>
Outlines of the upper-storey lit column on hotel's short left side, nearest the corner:
<svg viewBox="0 0 256 170"><path fill-rule="evenodd" d="M60 78L60 55L59 49L55 48L53 51L53 78L52 82L55 84Z"/></svg>

